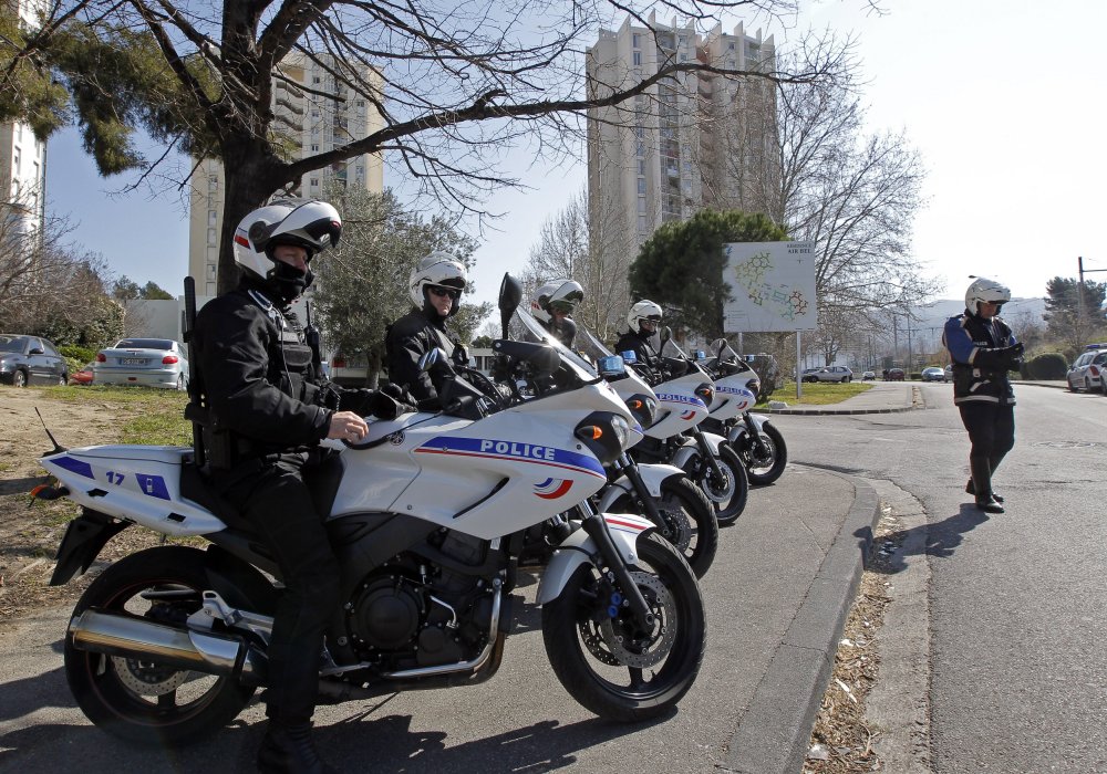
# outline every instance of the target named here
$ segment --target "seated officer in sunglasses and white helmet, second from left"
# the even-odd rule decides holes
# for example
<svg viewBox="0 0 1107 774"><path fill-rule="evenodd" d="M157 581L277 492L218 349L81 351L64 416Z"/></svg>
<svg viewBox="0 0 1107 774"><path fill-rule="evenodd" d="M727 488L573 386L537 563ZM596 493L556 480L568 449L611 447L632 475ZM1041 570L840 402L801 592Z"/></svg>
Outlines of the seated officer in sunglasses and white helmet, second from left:
<svg viewBox="0 0 1107 774"><path fill-rule="evenodd" d="M437 372L432 375L420 369L424 354L439 347L455 364L468 364L465 346L446 328L446 320L457 314L465 283L465 264L447 252L432 252L408 278L407 293L414 308L384 334L389 380L417 400L437 399L442 387Z"/></svg>

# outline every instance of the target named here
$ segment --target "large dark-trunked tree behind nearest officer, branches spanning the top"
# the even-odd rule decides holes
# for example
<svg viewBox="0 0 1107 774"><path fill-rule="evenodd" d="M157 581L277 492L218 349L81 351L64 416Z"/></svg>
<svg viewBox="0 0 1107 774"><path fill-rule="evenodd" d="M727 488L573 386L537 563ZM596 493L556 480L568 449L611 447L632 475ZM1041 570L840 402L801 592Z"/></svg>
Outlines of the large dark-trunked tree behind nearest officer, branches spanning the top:
<svg viewBox="0 0 1107 774"><path fill-rule="evenodd" d="M702 29L735 11L795 11L792 0L672 0L665 8ZM639 7L618 0L61 0L50 9L40 32L0 46L0 114L33 109L42 135L66 119L70 106L58 90L28 105L7 87L33 50L42 70L66 86L103 174L137 168L153 179L151 160L132 139L136 126L163 143L166 155L176 147L219 159L227 172L220 291L237 279L236 224L308 171L383 154L421 192L455 212L488 215L483 195L517 182L499 166L513 148L526 144L557 163L579 151L590 107L620 104L682 72L744 72L673 59L649 77L593 94L582 56L598 29L624 13L645 23ZM818 80L839 61L840 50L828 46L794 72L754 76ZM293 79L290 71L303 63L321 67L325 82L313 87ZM304 154L302 137L278 119L288 86L332 111L339 127L358 102L372 107L381 125L360 138L338 132L333 144Z"/></svg>

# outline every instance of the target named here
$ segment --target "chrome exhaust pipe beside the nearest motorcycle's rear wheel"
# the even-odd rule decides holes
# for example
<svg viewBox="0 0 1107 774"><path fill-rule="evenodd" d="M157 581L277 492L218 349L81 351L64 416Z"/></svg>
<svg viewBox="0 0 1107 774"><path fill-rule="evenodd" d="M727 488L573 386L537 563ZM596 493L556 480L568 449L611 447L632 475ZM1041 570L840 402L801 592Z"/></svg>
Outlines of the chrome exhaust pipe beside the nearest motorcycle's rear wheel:
<svg viewBox="0 0 1107 774"><path fill-rule="evenodd" d="M118 613L85 610L70 621L73 647L147 658L208 674L254 674L258 655L238 637L178 629Z"/></svg>

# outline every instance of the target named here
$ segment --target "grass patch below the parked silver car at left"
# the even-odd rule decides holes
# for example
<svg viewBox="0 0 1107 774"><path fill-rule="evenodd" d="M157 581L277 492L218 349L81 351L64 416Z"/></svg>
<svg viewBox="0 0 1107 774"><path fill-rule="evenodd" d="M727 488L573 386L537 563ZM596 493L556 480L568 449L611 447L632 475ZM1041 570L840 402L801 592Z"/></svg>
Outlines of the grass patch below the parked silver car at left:
<svg viewBox="0 0 1107 774"><path fill-rule="evenodd" d="M120 442L190 446L193 426L184 417L187 393L147 387L87 385L44 387L42 395L66 402L97 402L120 419Z"/></svg>

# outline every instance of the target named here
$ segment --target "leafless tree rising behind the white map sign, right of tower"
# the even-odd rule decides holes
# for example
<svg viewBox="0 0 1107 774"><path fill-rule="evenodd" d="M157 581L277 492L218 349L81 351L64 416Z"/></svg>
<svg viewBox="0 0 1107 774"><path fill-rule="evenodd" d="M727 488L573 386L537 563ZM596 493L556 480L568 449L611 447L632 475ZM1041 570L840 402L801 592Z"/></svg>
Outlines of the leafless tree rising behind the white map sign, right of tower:
<svg viewBox="0 0 1107 774"><path fill-rule="evenodd" d="M865 132L858 69L842 65L836 79L776 84L775 114L764 84L744 85L731 112L716 116L731 127L731 151L705 184L726 181L716 191L725 203L765 212L792 239L816 242L819 305L857 325L939 286L911 252L925 175L919 154L902 133Z"/></svg>

